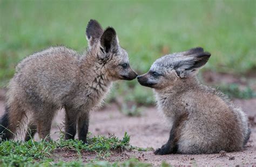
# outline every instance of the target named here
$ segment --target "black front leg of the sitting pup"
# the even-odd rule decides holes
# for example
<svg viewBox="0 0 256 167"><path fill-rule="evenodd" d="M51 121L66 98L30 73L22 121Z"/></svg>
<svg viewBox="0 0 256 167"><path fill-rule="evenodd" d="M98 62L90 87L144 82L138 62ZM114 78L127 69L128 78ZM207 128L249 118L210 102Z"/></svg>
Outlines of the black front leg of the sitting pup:
<svg viewBox="0 0 256 167"><path fill-rule="evenodd" d="M154 151L155 155L165 155L165 154L171 154L177 152L177 143L176 143L176 126L172 126L169 140L166 144L164 144L161 148L158 148L156 151Z"/></svg>

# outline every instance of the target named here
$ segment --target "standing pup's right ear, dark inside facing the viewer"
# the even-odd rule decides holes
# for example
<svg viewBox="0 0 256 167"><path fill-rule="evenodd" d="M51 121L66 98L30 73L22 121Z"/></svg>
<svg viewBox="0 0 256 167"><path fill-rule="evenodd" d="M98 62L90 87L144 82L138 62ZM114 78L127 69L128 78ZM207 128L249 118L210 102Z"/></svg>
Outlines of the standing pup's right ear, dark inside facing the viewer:
<svg viewBox="0 0 256 167"><path fill-rule="evenodd" d="M100 38L100 45L105 52L114 51L118 49L118 38L117 33L112 27L107 27L102 37Z"/></svg>

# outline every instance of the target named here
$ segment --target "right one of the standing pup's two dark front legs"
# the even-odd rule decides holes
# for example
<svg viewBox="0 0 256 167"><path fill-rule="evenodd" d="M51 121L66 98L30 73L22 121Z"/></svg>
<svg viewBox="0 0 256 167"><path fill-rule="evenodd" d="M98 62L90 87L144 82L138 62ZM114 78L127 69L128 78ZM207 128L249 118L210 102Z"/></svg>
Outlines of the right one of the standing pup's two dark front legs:
<svg viewBox="0 0 256 167"><path fill-rule="evenodd" d="M87 133L89 128L89 111L79 114L78 118L78 139L87 143Z"/></svg>

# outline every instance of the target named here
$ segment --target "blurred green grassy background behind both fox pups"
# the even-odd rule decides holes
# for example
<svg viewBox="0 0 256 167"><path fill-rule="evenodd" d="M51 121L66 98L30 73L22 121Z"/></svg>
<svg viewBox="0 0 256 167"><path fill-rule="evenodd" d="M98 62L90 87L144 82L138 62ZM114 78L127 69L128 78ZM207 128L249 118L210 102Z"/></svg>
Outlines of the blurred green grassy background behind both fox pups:
<svg viewBox="0 0 256 167"><path fill-rule="evenodd" d="M3 1L0 0L0 85L16 64L49 46L87 47L93 18L113 26L131 66L146 72L158 57L201 46L212 53L204 70L245 74L256 67L256 1ZM111 99L152 104L137 81L119 82ZM131 90L132 89L132 90Z"/></svg>

